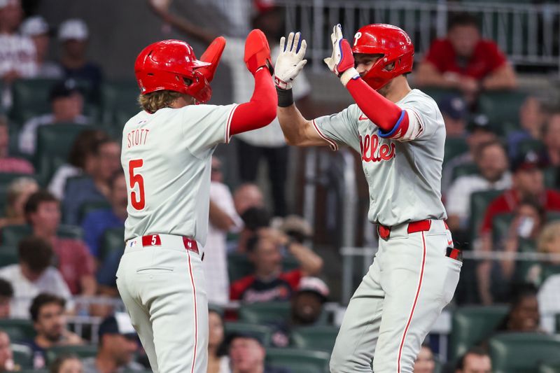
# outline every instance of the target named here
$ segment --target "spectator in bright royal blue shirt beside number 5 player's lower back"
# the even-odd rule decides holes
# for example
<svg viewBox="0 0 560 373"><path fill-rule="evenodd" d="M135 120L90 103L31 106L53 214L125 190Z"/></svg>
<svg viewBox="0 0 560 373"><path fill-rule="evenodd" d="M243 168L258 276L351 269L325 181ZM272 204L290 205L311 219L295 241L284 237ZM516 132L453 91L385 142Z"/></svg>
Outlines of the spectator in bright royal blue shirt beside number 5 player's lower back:
<svg viewBox="0 0 560 373"><path fill-rule="evenodd" d="M111 176L111 194L109 202L111 208L99 209L88 213L83 219L82 228L85 232L85 243L90 248L90 253L97 259L100 258L100 244L103 234L110 228L124 228L127 218L127 182L123 170ZM208 254L205 259L208 259Z"/></svg>

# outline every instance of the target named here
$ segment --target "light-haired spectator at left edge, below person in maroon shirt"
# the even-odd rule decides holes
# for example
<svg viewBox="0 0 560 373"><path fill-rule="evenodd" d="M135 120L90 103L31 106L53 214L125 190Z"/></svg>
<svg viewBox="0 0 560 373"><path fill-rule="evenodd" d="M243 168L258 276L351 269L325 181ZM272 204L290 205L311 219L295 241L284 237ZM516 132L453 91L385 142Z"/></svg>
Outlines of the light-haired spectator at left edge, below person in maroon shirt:
<svg viewBox="0 0 560 373"><path fill-rule="evenodd" d="M34 178L16 178L8 185L6 196L6 217L0 218L0 228L7 225L22 225L25 220L25 203L29 196L39 190L39 185Z"/></svg>

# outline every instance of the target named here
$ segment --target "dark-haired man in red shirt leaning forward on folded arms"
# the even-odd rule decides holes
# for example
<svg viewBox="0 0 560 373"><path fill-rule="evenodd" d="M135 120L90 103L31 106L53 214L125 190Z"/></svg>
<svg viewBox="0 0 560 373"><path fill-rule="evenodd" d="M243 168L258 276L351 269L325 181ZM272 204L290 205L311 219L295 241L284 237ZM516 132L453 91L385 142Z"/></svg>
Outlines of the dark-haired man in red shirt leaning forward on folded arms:
<svg viewBox="0 0 560 373"><path fill-rule="evenodd" d="M447 37L430 45L416 84L461 90L472 101L481 90L515 88L517 80L498 45L481 38L477 18L458 13L449 20Z"/></svg>

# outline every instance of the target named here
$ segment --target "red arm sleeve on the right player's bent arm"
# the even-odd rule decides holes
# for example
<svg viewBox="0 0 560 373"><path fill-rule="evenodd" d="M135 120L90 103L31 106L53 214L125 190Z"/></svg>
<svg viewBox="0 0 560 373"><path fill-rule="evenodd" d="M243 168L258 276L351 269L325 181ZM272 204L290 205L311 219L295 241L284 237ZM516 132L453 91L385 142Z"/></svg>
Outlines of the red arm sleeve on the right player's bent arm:
<svg viewBox="0 0 560 373"><path fill-rule="evenodd" d="M351 79L346 89L352 95L361 111L385 133L391 132L398 124L402 115L402 108L381 96L379 92L367 85L361 78ZM399 127L402 134L408 128L408 114L404 111Z"/></svg>

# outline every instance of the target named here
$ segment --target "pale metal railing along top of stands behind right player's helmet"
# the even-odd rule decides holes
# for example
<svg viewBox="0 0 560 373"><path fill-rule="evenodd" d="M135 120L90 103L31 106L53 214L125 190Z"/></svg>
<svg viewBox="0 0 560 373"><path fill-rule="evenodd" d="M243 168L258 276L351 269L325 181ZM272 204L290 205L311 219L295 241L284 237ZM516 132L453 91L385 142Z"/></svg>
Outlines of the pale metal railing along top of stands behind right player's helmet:
<svg viewBox="0 0 560 373"><path fill-rule="evenodd" d="M286 31L302 31L314 71L330 55L332 25L341 23L346 38L361 26L390 23L405 29L421 59L434 38L444 37L449 14L469 12L479 18L482 36L493 39L510 62L550 66L560 73L560 3L510 3L443 0L276 0L286 6Z"/></svg>

